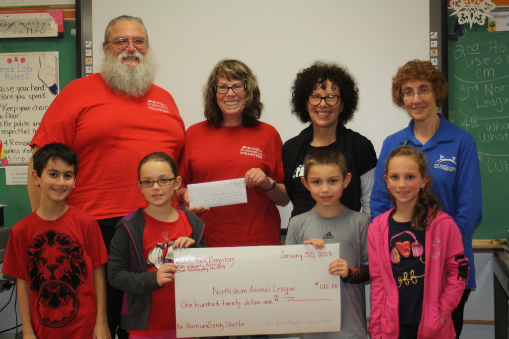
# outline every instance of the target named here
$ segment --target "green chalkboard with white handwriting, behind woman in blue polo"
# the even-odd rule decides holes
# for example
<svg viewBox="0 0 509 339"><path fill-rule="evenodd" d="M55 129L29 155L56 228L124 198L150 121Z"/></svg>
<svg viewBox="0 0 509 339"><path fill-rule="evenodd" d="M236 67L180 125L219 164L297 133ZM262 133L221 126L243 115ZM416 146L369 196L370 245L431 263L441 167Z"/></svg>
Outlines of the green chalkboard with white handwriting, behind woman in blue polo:
<svg viewBox="0 0 509 339"><path fill-rule="evenodd" d="M477 142L483 221L474 239L509 236L509 31L448 18L449 120ZM451 42L450 40L458 40Z"/></svg>

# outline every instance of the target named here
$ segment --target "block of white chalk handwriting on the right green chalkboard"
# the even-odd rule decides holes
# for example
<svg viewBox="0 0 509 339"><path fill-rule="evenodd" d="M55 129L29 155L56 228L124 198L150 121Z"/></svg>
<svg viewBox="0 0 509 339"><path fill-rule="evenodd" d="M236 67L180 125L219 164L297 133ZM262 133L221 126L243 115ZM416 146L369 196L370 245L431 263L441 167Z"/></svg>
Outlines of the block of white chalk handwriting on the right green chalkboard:
<svg viewBox="0 0 509 339"><path fill-rule="evenodd" d="M454 47L464 69L449 77L456 102L451 118L474 135L481 166L509 173L509 154L499 152L509 142L509 45L495 37L466 45L460 40Z"/></svg>

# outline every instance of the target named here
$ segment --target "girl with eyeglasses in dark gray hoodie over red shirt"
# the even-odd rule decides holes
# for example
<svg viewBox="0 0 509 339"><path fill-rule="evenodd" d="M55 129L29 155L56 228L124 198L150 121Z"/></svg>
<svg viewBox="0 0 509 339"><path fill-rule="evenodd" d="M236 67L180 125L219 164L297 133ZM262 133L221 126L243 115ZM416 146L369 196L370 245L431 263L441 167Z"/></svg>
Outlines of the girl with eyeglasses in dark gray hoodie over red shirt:
<svg viewBox="0 0 509 339"><path fill-rule="evenodd" d="M108 257L108 278L124 291L120 327L130 339L174 339L175 273L173 249L203 247L204 223L172 206L180 187L175 160L164 152L146 155L138 165L137 186L147 207L117 224Z"/></svg>

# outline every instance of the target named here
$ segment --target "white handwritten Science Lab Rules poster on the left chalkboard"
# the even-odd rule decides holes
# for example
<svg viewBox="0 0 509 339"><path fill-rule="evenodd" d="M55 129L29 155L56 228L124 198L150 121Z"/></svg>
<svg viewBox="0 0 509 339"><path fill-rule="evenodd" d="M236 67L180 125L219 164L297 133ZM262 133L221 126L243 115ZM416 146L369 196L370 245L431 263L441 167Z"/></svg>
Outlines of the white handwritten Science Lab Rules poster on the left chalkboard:
<svg viewBox="0 0 509 339"><path fill-rule="evenodd" d="M9 164L27 164L30 141L59 92L58 52L0 53L0 138Z"/></svg>

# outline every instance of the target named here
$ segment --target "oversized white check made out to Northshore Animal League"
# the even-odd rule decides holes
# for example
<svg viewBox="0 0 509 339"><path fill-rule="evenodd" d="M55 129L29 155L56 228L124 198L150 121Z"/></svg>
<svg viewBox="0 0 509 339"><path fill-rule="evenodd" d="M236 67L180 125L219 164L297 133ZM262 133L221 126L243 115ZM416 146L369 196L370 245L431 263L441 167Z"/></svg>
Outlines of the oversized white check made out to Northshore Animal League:
<svg viewBox="0 0 509 339"><path fill-rule="evenodd" d="M339 331L340 245L175 250L177 336Z"/></svg>

